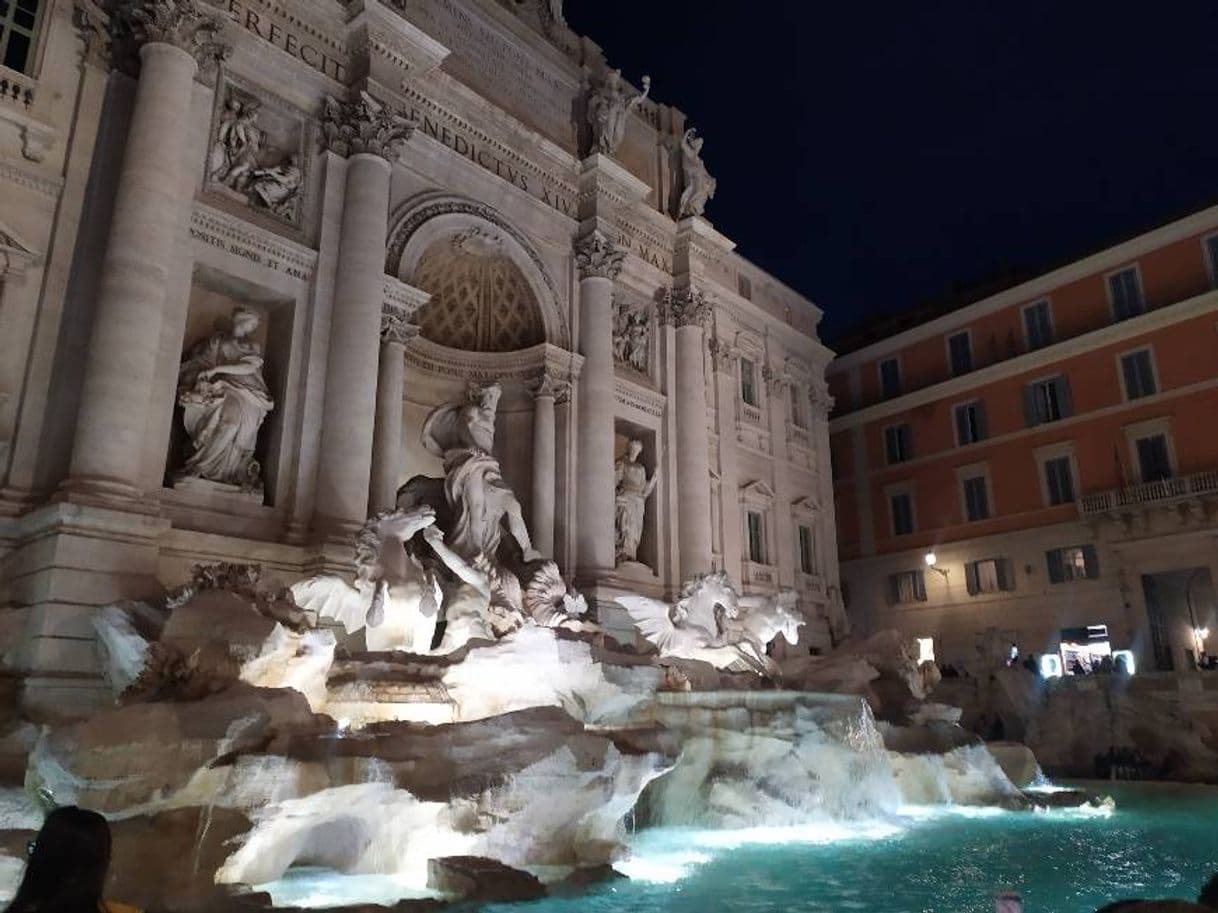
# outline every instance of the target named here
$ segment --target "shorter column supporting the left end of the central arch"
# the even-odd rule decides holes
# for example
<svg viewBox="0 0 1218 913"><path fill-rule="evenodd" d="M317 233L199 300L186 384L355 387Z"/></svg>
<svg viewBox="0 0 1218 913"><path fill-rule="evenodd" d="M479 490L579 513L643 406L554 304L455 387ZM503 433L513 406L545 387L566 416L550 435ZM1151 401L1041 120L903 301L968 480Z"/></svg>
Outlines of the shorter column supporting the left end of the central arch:
<svg viewBox="0 0 1218 913"><path fill-rule="evenodd" d="M368 514L392 508L402 471L402 398L406 347L419 332L398 308L381 312L380 364L376 374L376 426L373 430L371 491Z"/></svg>

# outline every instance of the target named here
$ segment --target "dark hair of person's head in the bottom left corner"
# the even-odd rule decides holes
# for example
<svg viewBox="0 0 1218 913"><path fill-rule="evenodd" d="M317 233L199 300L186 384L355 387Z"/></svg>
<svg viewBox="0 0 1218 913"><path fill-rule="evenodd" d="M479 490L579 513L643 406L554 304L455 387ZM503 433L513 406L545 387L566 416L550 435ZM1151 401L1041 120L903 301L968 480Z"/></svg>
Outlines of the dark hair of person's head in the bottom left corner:
<svg viewBox="0 0 1218 913"><path fill-rule="evenodd" d="M96 812L56 808L32 844L7 913L97 913L110 868L110 825Z"/></svg>

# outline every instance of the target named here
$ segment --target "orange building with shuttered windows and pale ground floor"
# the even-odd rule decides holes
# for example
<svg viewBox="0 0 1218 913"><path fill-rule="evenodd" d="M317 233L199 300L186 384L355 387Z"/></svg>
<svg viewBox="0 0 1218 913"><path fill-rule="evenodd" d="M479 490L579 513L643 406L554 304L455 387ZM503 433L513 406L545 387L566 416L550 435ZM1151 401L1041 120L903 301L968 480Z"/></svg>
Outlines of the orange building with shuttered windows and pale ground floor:
<svg viewBox="0 0 1218 913"><path fill-rule="evenodd" d="M1012 643L1067 671L1106 649L1164 671L1218 651L1216 259L1212 207L842 347L856 628L965 666Z"/></svg>

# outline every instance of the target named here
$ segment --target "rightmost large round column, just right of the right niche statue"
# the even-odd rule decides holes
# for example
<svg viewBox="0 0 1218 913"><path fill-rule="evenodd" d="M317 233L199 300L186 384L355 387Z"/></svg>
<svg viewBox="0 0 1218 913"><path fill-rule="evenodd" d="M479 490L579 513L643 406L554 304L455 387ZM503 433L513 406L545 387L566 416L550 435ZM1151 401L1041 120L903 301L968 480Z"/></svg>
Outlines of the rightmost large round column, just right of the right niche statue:
<svg viewBox="0 0 1218 913"><path fill-rule="evenodd" d="M703 327L710 301L697 289L674 289L660 320L676 327L677 553L681 578L710 570L710 438Z"/></svg>

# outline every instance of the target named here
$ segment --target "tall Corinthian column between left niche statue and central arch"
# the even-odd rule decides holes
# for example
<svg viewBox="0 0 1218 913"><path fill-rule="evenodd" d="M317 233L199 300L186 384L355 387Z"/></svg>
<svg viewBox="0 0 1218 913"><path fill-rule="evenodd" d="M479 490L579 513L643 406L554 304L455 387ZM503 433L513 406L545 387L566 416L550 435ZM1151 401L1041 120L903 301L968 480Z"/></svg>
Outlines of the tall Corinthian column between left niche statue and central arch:
<svg viewBox="0 0 1218 913"><path fill-rule="evenodd" d="M362 94L350 102L326 99L322 131L326 147L347 157L347 181L330 315L313 526L324 534L342 536L363 522L369 503L390 159L410 136L413 127L370 95Z"/></svg>

